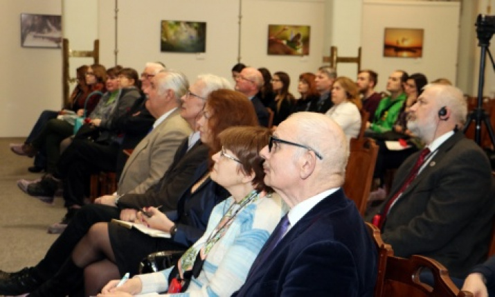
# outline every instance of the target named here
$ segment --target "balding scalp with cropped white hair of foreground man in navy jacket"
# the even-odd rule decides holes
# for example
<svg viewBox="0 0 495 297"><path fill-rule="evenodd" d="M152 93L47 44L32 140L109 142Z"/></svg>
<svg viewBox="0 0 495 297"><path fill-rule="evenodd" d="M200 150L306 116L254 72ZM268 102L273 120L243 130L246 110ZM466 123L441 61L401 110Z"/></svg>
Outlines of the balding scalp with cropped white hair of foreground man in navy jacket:
<svg viewBox="0 0 495 297"><path fill-rule="evenodd" d="M342 128L328 116L314 112L297 112L289 118L297 121L298 143L323 156L320 178L337 177L339 185L342 185L349 158L349 141Z"/></svg>

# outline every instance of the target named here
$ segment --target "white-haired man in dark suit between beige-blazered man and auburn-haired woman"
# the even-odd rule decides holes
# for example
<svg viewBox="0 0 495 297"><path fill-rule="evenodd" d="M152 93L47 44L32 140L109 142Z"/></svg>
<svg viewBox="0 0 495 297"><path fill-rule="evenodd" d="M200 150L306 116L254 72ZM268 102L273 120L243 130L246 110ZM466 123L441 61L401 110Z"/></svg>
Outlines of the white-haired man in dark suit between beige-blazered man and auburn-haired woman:
<svg viewBox="0 0 495 297"><path fill-rule="evenodd" d="M228 89L230 86L225 78L200 75L181 98L183 101L181 116L190 127L195 129L196 120L203 110L208 94L215 89ZM135 193L127 193L123 196L107 195L98 198L97 204L83 206L35 267L28 267L16 273L0 270L0 294L19 295L33 291L45 280L53 277L66 258L71 255L74 246L97 222L110 222L111 219L132 222L137 214L134 208L143 206L163 205L163 210L170 210L170 201L177 202L190 186L196 168L206 159L208 159L208 148L199 141L199 134L192 134L180 145L170 168L156 186L152 186L141 195Z"/></svg>

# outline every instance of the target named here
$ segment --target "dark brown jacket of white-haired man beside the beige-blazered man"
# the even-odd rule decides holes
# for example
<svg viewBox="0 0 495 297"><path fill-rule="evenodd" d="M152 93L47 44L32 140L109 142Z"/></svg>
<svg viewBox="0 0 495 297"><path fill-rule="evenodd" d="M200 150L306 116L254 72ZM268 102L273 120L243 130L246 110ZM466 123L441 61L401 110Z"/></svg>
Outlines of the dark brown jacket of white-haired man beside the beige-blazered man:
<svg viewBox="0 0 495 297"><path fill-rule="evenodd" d="M126 194L119 199L119 208L143 208L162 205L161 211L177 210L177 202L193 181L198 166L208 160L208 146L197 141L188 149L184 139L174 156L172 165L158 183L143 194ZM187 151L187 152L186 152Z"/></svg>

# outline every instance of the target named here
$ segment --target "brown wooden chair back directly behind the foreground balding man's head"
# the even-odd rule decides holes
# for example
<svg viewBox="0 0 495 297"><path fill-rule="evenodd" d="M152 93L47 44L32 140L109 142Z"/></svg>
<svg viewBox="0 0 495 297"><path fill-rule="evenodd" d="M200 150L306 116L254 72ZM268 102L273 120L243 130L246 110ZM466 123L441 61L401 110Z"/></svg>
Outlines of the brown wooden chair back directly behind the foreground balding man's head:
<svg viewBox="0 0 495 297"><path fill-rule="evenodd" d="M351 138L350 155L345 168L343 190L364 215L370 196L373 171L377 161L379 147L371 138Z"/></svg>

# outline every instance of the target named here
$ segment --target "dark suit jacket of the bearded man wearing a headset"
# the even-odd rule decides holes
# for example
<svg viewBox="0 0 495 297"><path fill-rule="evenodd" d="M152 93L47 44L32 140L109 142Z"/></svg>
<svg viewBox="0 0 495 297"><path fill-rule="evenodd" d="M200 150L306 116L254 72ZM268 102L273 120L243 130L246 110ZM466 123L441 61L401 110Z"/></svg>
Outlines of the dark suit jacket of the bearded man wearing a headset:
<svg viewBox="0 0 495 297"><path fill-rule="evenodd" d="M418 154L397 170L390 196L402 186ZM426 255L447 267L451 276L464 277L487 255L495 206L491 183L487 156L457 132L390 208L384 242L395 255Z"/></svg>

